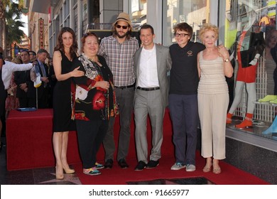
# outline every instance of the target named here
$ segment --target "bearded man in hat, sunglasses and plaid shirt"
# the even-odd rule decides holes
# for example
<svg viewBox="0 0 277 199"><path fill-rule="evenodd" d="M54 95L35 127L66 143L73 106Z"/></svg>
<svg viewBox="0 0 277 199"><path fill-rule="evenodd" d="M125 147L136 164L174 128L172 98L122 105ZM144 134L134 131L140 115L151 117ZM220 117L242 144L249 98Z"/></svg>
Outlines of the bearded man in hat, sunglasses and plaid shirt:
<svg viewBox="0 0 277 199"><path fill-rule="evenodd" d="M119 144L117 161L121 168L128 168L126 156L129 151L131 136L131 115L133 113L134 53L139 49L139 42L131 37L131 20L128 14L121 13L112 24L112 36L103 38L99 55L102 55L114 75L116 101L119 104ZM112 168L114 162L114 118L109 120L109 129L103 141L105 150L105 168Z"/></svg>

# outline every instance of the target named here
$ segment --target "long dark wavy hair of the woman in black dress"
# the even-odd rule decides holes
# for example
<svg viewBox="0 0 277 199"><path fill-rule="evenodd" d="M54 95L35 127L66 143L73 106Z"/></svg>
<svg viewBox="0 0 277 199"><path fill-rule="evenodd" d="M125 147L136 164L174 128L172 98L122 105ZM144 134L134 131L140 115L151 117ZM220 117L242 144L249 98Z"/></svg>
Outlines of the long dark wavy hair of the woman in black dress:
<svg viewBox="0 0 277 199"><path fill-rule="evenodd" d="M78 50L78 44L77 44L77 38L76 38L75 32L72 30L72 28L63 27L62 29L60 29L60 33L57 38L57 45L55 46L54 51L61 50L63 53L65 53L65 47L63 46L63 33L66 33L66 32L72 34L73 43L70 46L70 57L74 58Z"/></svg>

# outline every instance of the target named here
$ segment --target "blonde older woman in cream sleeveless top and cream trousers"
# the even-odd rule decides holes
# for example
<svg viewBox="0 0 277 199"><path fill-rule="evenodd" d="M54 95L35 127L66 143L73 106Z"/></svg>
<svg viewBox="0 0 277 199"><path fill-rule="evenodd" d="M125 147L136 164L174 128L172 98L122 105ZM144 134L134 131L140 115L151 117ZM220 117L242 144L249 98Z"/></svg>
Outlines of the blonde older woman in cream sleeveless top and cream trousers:
<svg viewBox="0 0 277 199"><path fill-rule="evenodd" d="M225 158L226 114L229 92L225 76L232 77L233 68L224 46L216 46L218 28L210 23L202 26L200 40L206 46L197 55L200 77L198 111L202 131L202 156L206 158L204 172L221 173L219 160Z"/></svg>

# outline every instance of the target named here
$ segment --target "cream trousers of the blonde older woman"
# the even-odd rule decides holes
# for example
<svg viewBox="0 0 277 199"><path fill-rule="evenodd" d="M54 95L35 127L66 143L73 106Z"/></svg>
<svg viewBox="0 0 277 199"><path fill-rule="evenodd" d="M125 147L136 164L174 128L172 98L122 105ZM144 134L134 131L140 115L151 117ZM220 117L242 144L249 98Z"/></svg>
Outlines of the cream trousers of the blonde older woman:
<svg viewBox="0 0 277 199"><path fill-rule="evenodd" d="M201 124L202 150L204 158L224 159L226 116L229 94L199 94L198 112Z"/></svg>

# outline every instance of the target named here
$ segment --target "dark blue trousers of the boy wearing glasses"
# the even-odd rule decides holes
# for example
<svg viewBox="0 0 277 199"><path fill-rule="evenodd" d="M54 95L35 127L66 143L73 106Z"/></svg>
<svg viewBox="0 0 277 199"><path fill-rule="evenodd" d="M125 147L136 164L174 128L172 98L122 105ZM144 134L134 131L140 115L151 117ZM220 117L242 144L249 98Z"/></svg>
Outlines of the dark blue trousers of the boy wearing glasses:
<svg viewBox="0 0 277 199"><path fill-rule="evenodd" d="M197 127L199 124L197 95L169 95L173 123L176 163L195 165Z"/></svg>

